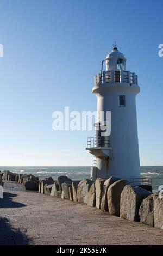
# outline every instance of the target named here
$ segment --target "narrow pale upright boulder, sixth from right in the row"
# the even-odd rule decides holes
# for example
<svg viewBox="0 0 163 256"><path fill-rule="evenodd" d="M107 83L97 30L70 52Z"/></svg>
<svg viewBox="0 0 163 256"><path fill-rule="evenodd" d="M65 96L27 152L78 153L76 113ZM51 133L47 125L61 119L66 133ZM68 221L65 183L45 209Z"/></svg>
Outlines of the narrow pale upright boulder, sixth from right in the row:
<svg viewBox="0 0 163 256"><path fill-rule="evenodd" d="M101 208L101 199L103 194L103 186L105 179L97 178L95 181L95 189L96 189L96 208Z"/></svg>

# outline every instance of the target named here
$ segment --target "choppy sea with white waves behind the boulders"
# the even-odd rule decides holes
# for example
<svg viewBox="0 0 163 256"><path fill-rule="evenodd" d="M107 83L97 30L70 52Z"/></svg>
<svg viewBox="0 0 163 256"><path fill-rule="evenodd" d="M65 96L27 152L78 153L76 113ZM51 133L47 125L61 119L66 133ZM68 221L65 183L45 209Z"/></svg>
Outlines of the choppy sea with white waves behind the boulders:
<svg viewBox="0 0 163 256"><path fill-rule="evenodd" d="M91 166L0 166L0 171L10 170L14 173L33 174L39 179L52 176L56 179L58 176L68 176L72 180L82 180L90 178ZM152 178L153 190L159 190L163 186L163 166L141 166L141 177Z"/></svg>

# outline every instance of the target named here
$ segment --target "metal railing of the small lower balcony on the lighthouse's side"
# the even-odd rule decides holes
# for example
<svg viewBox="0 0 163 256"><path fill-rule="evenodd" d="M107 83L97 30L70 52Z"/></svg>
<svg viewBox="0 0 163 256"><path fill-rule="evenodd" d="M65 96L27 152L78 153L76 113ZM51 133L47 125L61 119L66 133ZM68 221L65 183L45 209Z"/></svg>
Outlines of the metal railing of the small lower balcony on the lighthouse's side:
<svg viewBox="0 0 163 256"><path fill-rule="evenodd" d="M110 147L110 137L96 136L87 138L87 148Z"/></svg>

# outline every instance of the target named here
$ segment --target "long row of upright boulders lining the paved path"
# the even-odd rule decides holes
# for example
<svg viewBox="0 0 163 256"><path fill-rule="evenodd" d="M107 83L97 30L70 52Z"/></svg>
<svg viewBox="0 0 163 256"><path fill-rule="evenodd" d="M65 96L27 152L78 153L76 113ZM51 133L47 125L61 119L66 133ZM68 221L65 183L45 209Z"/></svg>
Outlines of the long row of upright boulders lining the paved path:
<svg viewBox="0 0 163 256"><path fill-rule="evenodd" d="M134 186L116 177L72 181L67 176L39 180L32 174L0 173L0 179L20 182L26 190L84 203L129 221L163 229L163 198L149 185Z"/></svg>

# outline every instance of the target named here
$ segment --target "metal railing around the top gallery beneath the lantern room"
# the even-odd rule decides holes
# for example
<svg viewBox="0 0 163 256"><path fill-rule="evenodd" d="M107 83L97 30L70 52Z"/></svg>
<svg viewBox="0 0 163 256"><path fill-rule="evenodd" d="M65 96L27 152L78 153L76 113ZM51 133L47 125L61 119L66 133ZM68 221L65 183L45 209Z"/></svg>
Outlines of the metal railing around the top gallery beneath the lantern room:
<svg viewBox="0 0 163 256"><path fill-rule="evenodd" d="M95 76L95 86L111 82L138 84L137 75L126 70L109 70Z"/></svg>

